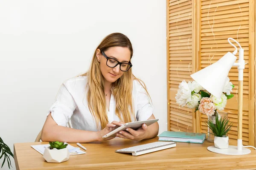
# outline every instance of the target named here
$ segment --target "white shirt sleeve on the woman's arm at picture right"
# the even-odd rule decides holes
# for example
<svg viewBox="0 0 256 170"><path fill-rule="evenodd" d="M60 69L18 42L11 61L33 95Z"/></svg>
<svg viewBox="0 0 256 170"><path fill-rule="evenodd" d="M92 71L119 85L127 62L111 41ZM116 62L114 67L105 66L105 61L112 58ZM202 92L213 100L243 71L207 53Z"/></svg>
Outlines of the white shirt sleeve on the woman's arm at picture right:
<svg viewBox="0 0 256 170"><path fill-rule="evenodd" d="M140 85L140 90L137 94L137 121L147 120L154 111L154 107L151 103L149 96L145 89Z"/></svg>

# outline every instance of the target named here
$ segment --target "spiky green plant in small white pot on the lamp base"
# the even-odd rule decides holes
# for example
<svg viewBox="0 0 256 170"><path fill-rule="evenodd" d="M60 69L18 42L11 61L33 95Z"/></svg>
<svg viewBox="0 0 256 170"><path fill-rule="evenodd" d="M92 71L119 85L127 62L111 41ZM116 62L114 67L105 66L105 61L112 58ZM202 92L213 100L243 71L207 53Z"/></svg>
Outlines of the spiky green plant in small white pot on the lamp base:
<svg viewBox="0 0 256 170"><path fill-rule="evenodd" d="M206 121L206 125L212 130L212 133L208 133L214 135L214 146L219 149L227 149L229 139L226 134L231 129L233 122L230 122L230 119L227 119L227 117L222 119L222 117L217 114L215 116L215 124L211 119L208 119L208 121Z"/></svg>

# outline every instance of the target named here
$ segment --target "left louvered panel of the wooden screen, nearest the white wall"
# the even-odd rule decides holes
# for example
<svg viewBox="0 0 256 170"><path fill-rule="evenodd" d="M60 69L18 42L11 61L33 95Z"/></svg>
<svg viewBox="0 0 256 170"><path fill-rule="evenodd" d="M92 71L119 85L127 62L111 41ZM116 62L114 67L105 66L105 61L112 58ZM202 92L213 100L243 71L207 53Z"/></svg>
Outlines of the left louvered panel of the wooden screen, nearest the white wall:
<svg viewBox="0 0 256 170"><path fill-rule="evenodd" d="M179 107L175 100L179 83L183 79L191 81L190 74L195 72L192 3L192 0L167 0L168 130L172 131L195 131L195 113Z"/></svg>

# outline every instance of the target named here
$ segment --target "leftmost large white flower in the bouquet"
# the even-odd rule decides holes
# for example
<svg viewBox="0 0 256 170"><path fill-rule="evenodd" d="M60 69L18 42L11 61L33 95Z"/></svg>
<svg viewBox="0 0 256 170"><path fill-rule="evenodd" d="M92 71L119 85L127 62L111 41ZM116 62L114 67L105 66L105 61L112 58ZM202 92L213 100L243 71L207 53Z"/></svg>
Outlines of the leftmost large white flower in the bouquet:
<svg viewBox="0 0 256 170"><path fill-rule="evenodd" d="M180 83L175 99L177 104L182 107L191 100L191 90L189 88L189 84L185 80Z"/></svg>

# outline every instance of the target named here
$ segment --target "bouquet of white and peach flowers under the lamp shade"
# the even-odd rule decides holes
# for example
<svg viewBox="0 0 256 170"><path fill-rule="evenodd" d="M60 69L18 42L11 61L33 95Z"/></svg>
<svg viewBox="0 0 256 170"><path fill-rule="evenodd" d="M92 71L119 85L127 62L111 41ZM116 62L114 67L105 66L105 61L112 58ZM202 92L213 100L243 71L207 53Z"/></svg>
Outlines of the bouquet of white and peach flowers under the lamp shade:
<svg viewBox="0 0 256 170"><path fill-rule="evenodd" d="M221 98L217 98L206 91L197 82L186 82L183 80L179 85L175 99L179 106L183 107L187 105L190 109L195 108L195 111L199 110L207 116L212 116L215 115L217 109L224 110L227 104L227 99L231 99L234 96L233 94L230 94L230 92L233 92L233 88L234 85L227 77L222 91L223 94L221 95Z"/></svg>

